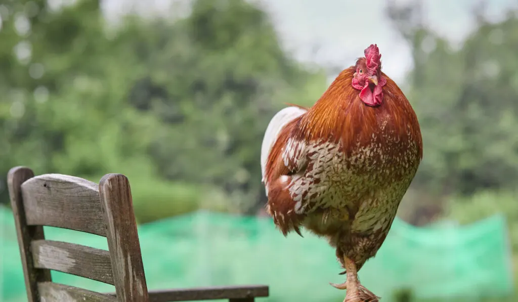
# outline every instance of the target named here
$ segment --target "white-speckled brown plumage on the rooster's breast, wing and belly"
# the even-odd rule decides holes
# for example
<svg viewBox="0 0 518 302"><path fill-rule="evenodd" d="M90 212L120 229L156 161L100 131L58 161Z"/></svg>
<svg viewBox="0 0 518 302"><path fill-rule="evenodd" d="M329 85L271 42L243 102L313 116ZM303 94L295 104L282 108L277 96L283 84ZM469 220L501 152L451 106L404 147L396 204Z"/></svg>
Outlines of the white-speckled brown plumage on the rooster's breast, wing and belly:
<svg viewBox="0 0 518 302"><path fill-rule="evenodd" d="M395 137L380 126L371 137L356 142L350 155L341 142L289 139L282 152L285 166L306 165L283 178L295 204L285 213L268 205L281 229L286 217L296 214L301 225L326 236L360 267L381 247L421 158L408 133Z"/></svg>

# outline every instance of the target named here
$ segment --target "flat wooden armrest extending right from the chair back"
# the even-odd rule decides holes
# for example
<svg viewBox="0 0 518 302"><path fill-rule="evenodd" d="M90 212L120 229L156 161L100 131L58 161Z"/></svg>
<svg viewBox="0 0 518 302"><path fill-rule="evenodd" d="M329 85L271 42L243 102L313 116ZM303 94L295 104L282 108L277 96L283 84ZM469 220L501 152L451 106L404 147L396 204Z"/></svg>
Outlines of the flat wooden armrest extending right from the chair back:
<svg viewBox="0 0 518 302"><path fill-rule="evenodd" d="M216 299L248 302L253 301L254 297L268 297L268 294L268 286L266 285L196 287L192 289L149 291L149 302Z"/></svg>

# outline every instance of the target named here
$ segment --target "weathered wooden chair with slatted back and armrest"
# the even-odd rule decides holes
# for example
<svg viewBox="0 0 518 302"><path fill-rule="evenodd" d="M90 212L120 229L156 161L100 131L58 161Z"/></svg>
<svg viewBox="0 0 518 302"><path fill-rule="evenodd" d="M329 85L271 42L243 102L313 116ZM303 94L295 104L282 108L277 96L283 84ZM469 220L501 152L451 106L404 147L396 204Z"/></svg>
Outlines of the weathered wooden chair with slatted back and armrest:
<svg viewBox="0 0 518 302"><path fill-rule="evenodd" d="M8 174L28 301L166 302L267 297L268 286L226 286L148 291L142 266L130 183L121 174L94 182L61 174L34 176L15 167ZM45 240L43 226L104 236L108 251ZM52 282L57 270L115 285L103 294Z"/></svg>

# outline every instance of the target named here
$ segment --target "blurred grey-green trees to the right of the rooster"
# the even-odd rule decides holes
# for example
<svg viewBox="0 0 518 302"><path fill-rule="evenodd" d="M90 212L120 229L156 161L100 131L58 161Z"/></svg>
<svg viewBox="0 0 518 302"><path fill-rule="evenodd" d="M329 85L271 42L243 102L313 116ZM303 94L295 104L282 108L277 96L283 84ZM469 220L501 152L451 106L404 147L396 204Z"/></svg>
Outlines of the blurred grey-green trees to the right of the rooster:
<svg viewBox="0 0 518 302"><path fill-rule="evenodd" d="M414 5L414 4L411 4ZM518 177L518 19L487 22L459 50L427 30L414 6L389 7L409 40L414 69L406 92L421 123L424 157L414 186L435 195L512 189Z"/></svg>

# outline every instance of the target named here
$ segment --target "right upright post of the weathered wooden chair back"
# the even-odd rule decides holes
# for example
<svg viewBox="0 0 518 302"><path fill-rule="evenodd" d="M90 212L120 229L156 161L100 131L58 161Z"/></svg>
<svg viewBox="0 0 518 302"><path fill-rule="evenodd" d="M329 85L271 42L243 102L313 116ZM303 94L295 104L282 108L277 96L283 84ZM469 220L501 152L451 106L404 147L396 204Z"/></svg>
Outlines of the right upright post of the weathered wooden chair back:
<svg viewBox="0 0 518 302"><path fill-rule="evenodd" d="M130 183L124 175L107 174L99 182L99 193L117 296L126 302L148 302Z"/></svg>

